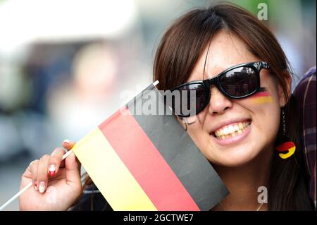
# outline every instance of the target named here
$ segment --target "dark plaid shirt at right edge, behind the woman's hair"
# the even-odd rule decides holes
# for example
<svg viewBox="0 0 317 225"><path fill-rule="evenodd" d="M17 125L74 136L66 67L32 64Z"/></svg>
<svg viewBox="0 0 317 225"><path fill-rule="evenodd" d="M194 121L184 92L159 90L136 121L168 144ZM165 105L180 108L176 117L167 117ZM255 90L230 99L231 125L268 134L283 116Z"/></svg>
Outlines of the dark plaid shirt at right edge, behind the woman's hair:
<svg viewBox="0 0 317 225"><path fill-rule="evenodd" d="M297 109L302 121L301 142L309 172L309 197L316 209L316 66L310 68L294 90Z"/></svg>

